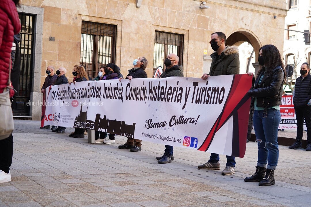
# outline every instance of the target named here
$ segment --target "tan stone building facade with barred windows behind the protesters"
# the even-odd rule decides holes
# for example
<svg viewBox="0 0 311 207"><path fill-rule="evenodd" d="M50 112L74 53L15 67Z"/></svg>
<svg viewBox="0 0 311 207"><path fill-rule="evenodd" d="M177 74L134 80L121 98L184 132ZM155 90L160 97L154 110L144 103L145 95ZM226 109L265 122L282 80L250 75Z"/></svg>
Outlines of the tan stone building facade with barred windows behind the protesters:
<svg viewBox="0 0 311 207"><path fill-rule="evenodd" d="M30 100L42 99L40 88L46 77L47 66L67 68L66 76L72 79L73 66L90 61L93 58L91 53L98 54L97 59L92 59L96 62L86 66L93 77L98 72L98 65L107 61L120 66L121 73L126 75L133 66L133 60L145 56L149 61L146 73L151 78L154 68L163 65L166 53L177 52L182 56L180 64L183 65L184 75L199 78L202 73L209 71L209 54L213 52L209 40L216 31L227 35L227 44L249 42L256 51L255 68L258 67L258 49L262 45L274 44L283 51L283 36L280 34L284 34L285 0L205 2L21 0L18 11L32 15L34 27ZM202 9L200 6L210 8ZM114 36L105 31L101 34L98 25L102 25L103 30L113 25L110 30ZM85 36L81 33L85 33ZM88 40L94 42L90 44ZM82 50L82 47L86 49ZM39 106L30 106L29 116L40 119L40 110Z"/></svg>

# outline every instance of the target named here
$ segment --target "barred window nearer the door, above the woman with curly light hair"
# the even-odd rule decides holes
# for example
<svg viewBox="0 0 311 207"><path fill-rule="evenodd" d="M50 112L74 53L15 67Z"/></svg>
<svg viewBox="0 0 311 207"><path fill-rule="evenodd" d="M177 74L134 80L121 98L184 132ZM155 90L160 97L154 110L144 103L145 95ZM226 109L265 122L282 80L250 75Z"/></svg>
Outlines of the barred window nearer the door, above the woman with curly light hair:
<svg viewBox="0 0 311 207"><path fill-rule="evenodd" d="M80 65L92 78L100 66L115 63L117 25L82 21Z"/></svg>

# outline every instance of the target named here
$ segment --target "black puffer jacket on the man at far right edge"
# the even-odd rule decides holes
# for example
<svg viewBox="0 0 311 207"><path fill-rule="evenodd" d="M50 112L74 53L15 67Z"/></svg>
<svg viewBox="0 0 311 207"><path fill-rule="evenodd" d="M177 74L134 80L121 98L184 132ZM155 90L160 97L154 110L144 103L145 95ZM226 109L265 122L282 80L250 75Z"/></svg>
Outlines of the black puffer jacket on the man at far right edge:
<svg viewBox="0 0 311 207"><path fill-rule="evenodd" d="M311 75L310 73L302 79L302 76L296 79L294 91L294 106L307 106L311 98Z"/></svg>

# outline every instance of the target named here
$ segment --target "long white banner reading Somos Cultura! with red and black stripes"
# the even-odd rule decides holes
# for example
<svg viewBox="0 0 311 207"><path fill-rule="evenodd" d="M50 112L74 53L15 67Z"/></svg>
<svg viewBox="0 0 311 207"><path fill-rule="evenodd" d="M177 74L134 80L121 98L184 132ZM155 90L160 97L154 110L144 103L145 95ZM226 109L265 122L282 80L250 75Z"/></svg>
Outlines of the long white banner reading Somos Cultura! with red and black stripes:
<svg viewBox="0 0 311 207"><path fill-rule="evenodd" d="M243 157L252 77L84 81L46 89L44 125Z"/></svg>

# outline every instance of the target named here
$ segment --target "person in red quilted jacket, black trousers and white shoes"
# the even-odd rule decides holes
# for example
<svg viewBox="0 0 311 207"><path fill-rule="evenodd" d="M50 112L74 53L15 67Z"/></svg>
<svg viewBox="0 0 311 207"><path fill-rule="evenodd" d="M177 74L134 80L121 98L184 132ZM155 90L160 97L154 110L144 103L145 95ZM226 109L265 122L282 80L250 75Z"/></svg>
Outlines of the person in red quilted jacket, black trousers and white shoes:
<svg viewBox="0 0 311 207"><path fill-rule="evenodd" d="M9 78L11 48L14 34L21 30L16 6L19 0L1 0L0 3L0 93L7 87ZM14 90L11 86L10 97ZM13 136L0 140L0 183L11 181L10 167L13 157Z"/></svg>

